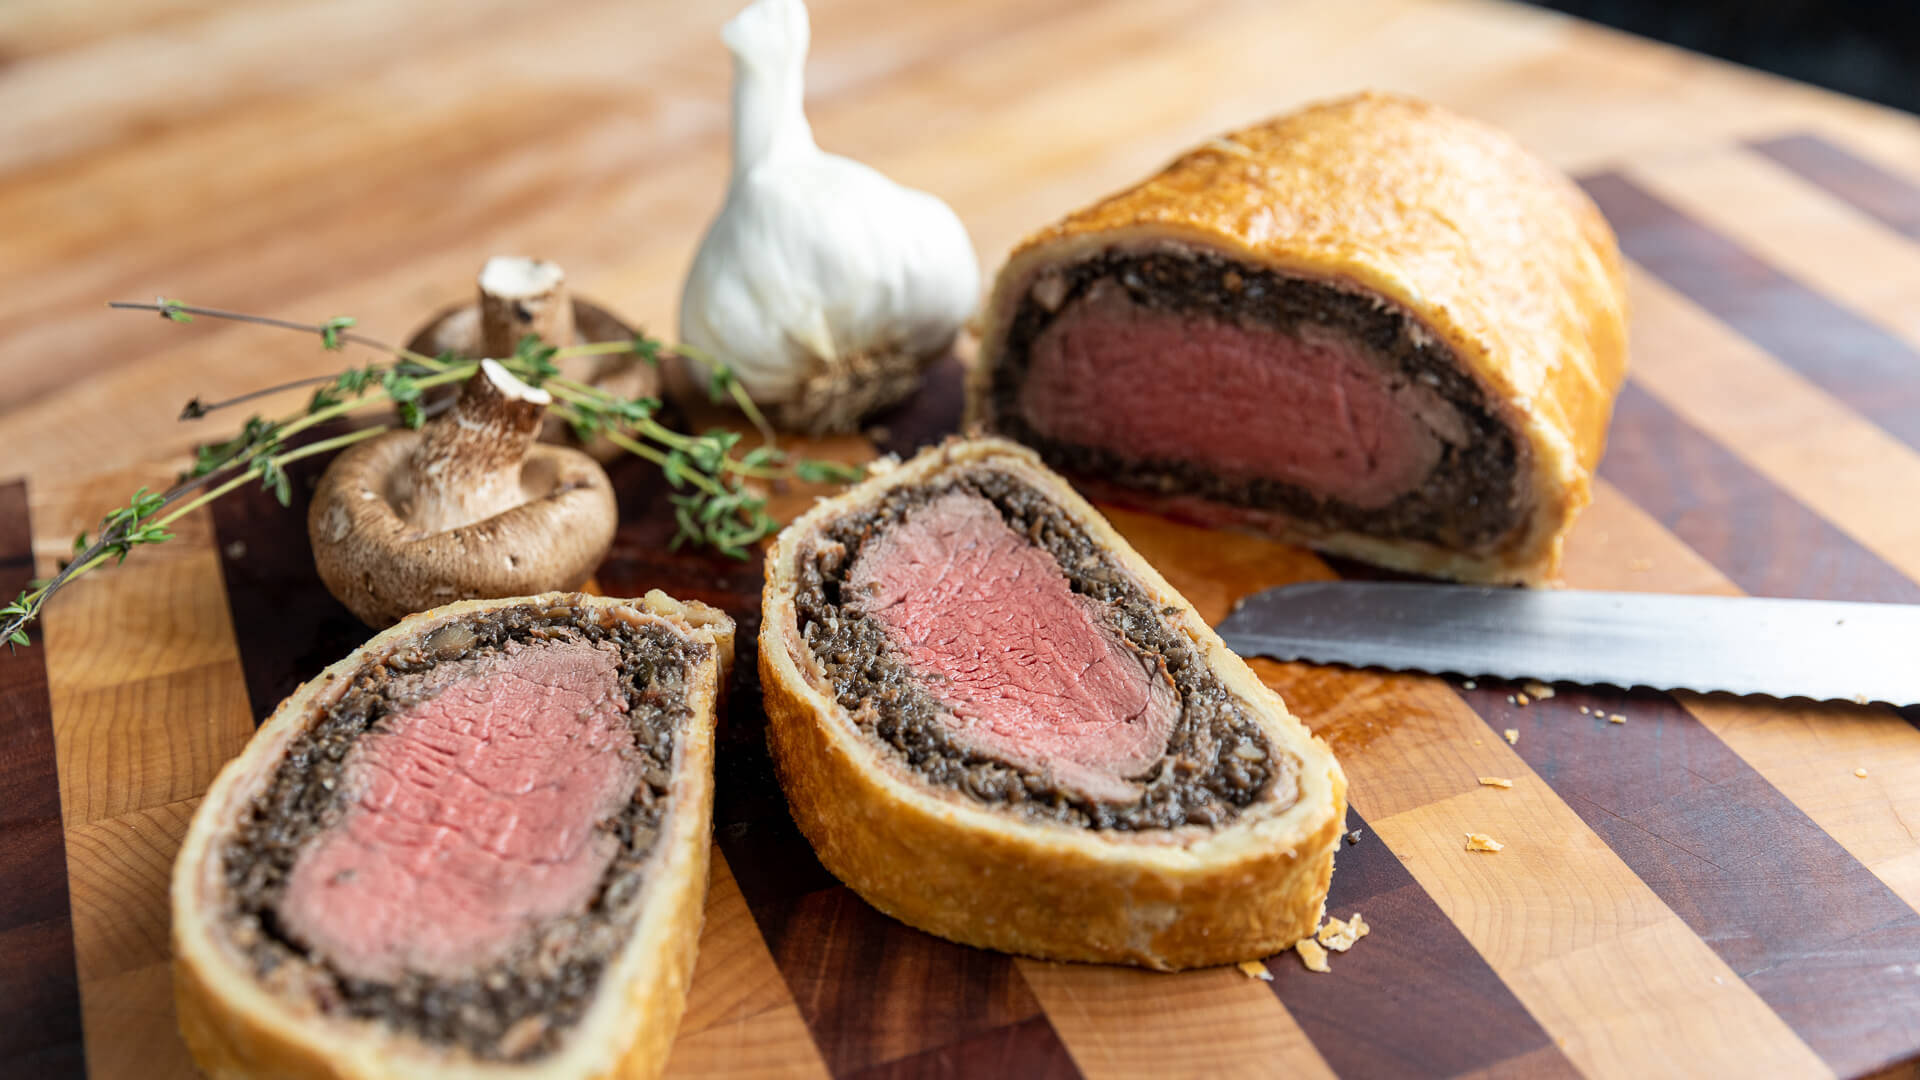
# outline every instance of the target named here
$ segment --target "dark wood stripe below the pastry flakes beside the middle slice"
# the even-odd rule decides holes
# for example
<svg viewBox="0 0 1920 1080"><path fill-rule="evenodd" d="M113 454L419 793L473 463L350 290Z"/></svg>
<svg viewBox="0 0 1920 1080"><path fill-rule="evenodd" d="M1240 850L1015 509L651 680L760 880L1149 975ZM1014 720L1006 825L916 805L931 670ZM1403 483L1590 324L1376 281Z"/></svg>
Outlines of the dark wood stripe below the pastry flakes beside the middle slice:
<svg viewBox="0 0 1920 1080"><path fill-rule="evenodd" d="M1457 1076L1528 1057L1530 1076L1576 1076L1532 1013L1357 813L1359 844L1334 857L1327 915L1373 932L1332 974L1292 951L1267 961L1273 994L1342 1078ZM1361 1024L1361 1030L1356 1028Z"/></svg>

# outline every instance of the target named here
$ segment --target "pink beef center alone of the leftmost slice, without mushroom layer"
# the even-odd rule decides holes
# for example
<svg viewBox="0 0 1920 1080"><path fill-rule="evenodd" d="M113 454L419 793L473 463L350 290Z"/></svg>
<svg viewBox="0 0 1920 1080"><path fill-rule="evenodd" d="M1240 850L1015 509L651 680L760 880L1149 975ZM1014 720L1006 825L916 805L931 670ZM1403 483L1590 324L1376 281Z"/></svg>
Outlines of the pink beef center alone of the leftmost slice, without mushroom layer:
<svg viewBox="0 0 1920 1080"><path fill-rule="evenodd" d="M584 911L637 782L612 644L509 642L438 665L348 753L346 813L294 861L278 917L348 976L459 976Z"/></svg>

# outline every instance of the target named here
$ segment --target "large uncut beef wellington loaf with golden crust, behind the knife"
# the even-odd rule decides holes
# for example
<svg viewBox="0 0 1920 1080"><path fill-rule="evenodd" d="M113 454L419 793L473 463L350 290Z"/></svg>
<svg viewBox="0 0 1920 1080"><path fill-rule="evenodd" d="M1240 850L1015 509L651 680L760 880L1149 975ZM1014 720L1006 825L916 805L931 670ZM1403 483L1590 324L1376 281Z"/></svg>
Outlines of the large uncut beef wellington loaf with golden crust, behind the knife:
<svg viewBox="0 0 1920 1080"><path fill-rule="evenodd" d="M970 409L1094 498L1548 584L1624 367L1592 200L1490 127L1363 94L1025 240Z"/></svg>

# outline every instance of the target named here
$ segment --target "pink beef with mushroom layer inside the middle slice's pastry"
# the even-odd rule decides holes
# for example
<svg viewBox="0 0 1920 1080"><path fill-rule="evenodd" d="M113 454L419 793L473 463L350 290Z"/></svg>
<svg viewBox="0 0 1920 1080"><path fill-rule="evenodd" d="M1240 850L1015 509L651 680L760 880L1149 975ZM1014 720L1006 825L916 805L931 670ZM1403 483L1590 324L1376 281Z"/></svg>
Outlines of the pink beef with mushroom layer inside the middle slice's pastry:
<svg viewBox="0 0 1920 1080"><path fill-rule="evenodd" d="M1275 753L1169 613L996 467L835 517L797 571L801 638L835 701L929 784L1117 830L1298 798L1298 759Z"/></svg>

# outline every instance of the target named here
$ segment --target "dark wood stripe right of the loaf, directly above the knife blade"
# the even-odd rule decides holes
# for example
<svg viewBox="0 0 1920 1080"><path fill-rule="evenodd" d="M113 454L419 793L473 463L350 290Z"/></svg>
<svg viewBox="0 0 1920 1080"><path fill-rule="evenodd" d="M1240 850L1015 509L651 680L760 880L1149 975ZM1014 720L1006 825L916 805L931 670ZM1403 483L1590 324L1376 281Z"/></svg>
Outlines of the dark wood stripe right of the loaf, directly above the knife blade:
<svg viewBox="0 0 1920 1080"><path fill-rule="evenodd" d="M1632 380L1599 475L1753 596L1920 603L1920 584Z"/></svg>

